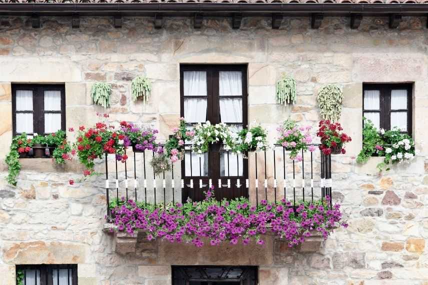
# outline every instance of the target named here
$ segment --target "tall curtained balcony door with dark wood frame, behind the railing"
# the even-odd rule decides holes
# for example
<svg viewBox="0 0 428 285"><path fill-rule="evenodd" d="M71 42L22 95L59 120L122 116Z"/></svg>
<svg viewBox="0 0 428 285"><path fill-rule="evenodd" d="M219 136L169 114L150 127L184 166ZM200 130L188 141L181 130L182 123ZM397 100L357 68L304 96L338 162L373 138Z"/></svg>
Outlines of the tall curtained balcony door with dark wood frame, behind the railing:
<svg viewBox="0 0 428 285"><path fill-rule="evenodd" d="M195 123L209 120L241 129L247 125L247 91L245 65L181 65L180 66L181 116L192 128ZM186 142L190 143L190 142ZM190 150L190 146L187 147ZM218 188L218 179L228 187L227 179L247 177L247 165L242 155L211 146L209 153L201 155L187 152L182 162L182 176L191 179L210 178L216 186L217 198L247 196L246 188L230 185L224 190ZM190 179L190 178L189 178ZM199 185L195 185L198 187ZM233 193L233 194L231 194ZM193 200L203 199L203 191L183 191Z"/></svg>

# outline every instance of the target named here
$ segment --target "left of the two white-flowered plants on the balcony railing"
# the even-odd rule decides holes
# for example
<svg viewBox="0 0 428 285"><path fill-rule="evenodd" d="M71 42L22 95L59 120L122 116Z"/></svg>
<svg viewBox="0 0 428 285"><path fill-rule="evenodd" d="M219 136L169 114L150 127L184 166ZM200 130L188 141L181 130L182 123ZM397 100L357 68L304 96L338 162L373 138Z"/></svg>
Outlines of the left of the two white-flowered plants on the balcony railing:
<svg viewBox="0 0 428 285"><path fill-rule="evenodd" d="M193 151L203 153L208 151L209 144L222 142L227 148L233 149L231 144L231 130L227 124L220 122L211 124L209 120L194 126Z"/></svg>

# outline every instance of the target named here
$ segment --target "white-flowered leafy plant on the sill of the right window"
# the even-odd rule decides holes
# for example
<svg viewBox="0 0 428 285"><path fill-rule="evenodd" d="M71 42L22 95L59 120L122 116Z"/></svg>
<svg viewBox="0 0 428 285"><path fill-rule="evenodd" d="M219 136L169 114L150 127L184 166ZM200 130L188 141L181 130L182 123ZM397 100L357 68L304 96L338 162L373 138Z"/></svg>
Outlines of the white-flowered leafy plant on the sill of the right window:
<svg viewBox="0 0 428 285"><path fill-rule="evenodd" d="M366 162L372 155L385 156L383 162L377 164L382 171L389 170L389 164L409 162L414 158L413 139L398 128L387 131L381 128L378 131L369 119L364 118L362 135L362 149L356 157L359 163Z"/></svg>

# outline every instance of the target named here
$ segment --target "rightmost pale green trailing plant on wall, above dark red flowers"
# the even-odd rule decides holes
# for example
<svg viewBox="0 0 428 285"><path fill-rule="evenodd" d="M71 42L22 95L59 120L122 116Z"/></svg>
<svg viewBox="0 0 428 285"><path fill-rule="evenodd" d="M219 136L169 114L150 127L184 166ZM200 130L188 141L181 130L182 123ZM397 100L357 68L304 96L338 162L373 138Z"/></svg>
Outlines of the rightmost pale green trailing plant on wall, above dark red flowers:
<svg viewBox="0 0 428 285"><path fill-rule="evenodd" d="M342 111L343 92L334 84L322 86L316 97L319 103L320 115L325 120L338 121Z"/></svg>

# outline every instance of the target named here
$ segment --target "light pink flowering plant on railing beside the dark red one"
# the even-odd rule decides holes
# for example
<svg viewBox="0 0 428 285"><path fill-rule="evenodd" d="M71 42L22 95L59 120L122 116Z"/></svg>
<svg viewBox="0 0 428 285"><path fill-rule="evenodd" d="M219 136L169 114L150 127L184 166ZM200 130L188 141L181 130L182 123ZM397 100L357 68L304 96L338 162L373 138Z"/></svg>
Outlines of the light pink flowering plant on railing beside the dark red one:
<svg viewBox="0 0 428 285"><path fill-rule="evenodd" d="M299 154L299 151L308 149L307 143L312 142L312 137L310 136L311 126L307 125L305 127L299 127L296 122L290 118L285 120L281 126L276 128L279 132L277 144L281 144L285 149L290 150L290 158L301 160L302 157ZM309 146L310 151L314 151L314 146Z"/></svg>

